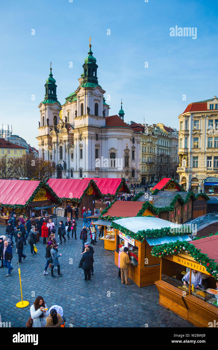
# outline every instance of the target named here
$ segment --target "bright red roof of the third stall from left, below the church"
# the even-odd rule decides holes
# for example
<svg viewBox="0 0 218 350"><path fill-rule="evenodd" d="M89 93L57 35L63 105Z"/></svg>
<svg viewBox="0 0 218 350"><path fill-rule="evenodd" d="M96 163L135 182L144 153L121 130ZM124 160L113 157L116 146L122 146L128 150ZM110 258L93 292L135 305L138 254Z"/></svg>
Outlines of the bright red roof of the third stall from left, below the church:
<svg viewBox="0 0 218 350"><path fill-rule="evenodd" d="M112 178L104 178L104 177L88 177L87 179L89 180L93 180L99 190L101 191L102 194L107 195L117 195L119 193L118 191L118 187L121 184L121 192L125 192L125 193L130 193L129 188L126 184L126 181L124 178L119 178L119 179L112 179ZM85 179L83 179L85 180Z"/></svg>

